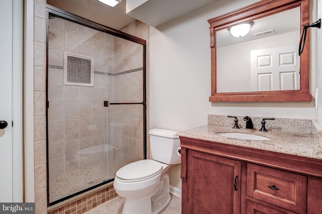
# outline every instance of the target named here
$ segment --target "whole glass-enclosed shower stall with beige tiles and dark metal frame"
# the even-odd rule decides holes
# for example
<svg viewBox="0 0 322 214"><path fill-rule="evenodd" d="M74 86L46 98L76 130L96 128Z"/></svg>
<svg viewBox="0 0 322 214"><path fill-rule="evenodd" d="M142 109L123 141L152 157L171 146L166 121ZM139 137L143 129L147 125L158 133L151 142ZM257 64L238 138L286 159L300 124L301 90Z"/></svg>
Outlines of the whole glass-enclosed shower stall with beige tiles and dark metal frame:
<svg viewBox="0 0 322 214"><path fill-rule="evenodd" d="M146 158L145 40L47 6L47 187L55 204Z"/></svg>

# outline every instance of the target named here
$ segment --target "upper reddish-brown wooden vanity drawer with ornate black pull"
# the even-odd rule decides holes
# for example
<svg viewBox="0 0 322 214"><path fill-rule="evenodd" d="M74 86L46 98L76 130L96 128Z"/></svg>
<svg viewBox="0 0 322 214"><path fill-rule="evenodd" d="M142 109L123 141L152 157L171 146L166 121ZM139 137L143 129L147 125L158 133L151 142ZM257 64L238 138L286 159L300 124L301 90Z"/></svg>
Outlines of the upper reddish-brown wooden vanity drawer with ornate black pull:
<svg viewBox="0 0 322 214"><path fill-rule="evenodd" d="M306 212L306 183L302 175L247 164L247 195L293 212Z"/></svg>

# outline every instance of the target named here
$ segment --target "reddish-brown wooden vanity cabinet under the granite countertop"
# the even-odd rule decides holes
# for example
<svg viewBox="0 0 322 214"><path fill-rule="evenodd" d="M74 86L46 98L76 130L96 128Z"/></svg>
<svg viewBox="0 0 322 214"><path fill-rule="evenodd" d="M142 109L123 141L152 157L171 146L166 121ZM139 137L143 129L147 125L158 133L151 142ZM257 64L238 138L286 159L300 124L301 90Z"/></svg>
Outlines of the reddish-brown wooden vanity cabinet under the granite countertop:
<svg viewBox="0 0 322 214"><path fill-rule="evenodd" d="M180 140L182 213L322 213L322 160Z"/></svg>

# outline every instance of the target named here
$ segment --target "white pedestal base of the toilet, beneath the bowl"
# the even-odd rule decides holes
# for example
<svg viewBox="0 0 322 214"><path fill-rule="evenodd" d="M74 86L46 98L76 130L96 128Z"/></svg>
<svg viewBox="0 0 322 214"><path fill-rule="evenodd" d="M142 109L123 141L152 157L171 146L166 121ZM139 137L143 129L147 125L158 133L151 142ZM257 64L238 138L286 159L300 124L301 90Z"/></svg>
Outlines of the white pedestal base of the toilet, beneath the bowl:
<svg viewBox="0 0 322 214"><path fill-rule="evenodd" d="M122 214L157 214L169 204L170 199L170 178L166 172L152 197L125 198Z"/></svg>

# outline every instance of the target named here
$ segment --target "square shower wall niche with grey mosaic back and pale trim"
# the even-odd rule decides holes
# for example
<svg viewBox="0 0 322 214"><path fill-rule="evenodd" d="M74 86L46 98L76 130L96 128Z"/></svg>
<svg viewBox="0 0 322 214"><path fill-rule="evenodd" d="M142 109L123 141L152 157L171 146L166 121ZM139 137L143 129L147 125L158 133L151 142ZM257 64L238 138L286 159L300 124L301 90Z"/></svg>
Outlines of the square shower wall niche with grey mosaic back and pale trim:
<svg viewBox="0 0 322 214"><path fill-rule="evenodd" d="M64 53L64 85L94 86L94 58Z"/></svg>

